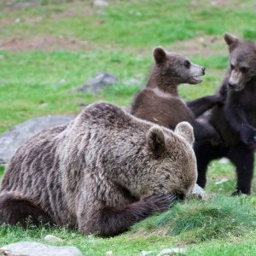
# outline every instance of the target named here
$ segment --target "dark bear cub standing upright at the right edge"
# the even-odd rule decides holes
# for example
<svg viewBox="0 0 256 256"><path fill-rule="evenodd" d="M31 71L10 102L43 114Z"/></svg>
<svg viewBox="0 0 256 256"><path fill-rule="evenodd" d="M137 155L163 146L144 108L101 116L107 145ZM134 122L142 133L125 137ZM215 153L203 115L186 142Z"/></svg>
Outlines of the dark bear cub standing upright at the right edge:
<svg viewBox="0 0 256 256"><path fill-rule="evenodd" d="M223 106L213 108L209 116L224 142L218 146L196 143L197 183L205 187L208 163L225 156L236 166L233 195L250 194L256 143L256 45L228 33L224 40L230 50L230 68L218 94L223 94L225 101Z"/></svg>

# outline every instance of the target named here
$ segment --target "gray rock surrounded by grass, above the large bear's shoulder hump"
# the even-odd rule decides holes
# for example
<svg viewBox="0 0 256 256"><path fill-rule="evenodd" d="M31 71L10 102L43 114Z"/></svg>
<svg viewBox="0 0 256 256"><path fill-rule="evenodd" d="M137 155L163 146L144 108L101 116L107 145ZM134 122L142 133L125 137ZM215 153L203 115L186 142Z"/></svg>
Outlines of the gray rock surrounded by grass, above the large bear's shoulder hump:
<svg viewBox="0 0 256 256"><path fill-rule="evenodd" d="M115 84L119 81L117 77L110 73L98 73L94 79L82 84L75 91L84 93L96 93L104 87Z"/></svg>

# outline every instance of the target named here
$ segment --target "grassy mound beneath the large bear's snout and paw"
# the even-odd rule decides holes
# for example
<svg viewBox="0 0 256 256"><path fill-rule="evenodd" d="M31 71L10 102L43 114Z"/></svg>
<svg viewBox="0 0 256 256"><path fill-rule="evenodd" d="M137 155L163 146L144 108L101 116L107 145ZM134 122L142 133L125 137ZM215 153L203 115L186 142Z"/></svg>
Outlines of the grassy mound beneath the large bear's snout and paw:
<svg viewBox="0 0 256 256"><path fill-rule="evenodd" d="M255 199L255 198L254 198ZM254 199L214 196L207 201L179 203L171 210L135 224L138 233L180 236L183 241L198 243L215 238L241 236L244 230L255 230Z"/></svg>

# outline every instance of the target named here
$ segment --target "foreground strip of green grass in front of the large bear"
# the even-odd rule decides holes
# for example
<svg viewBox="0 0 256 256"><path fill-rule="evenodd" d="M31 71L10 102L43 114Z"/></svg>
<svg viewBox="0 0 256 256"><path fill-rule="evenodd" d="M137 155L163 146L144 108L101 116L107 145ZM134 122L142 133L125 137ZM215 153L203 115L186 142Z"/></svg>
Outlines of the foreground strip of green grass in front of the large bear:
<svg viewBox="0 0 256 256"><path fill-rule="evenodd" d="M49 244L73 245L84 255L104 255L109 250L114 255L139 255L143 250L154 251L153 255L156 255L163 248L177 246L188 248L189 255L240 255L241 252L242 255L253 255L255 207L255 197L230 199L218 195L210 201L187 201L110 239L84 236L77 230L65 228L2 226L0 246L7 241L45 243L44 236L51 234L63 241Z"/></svg>

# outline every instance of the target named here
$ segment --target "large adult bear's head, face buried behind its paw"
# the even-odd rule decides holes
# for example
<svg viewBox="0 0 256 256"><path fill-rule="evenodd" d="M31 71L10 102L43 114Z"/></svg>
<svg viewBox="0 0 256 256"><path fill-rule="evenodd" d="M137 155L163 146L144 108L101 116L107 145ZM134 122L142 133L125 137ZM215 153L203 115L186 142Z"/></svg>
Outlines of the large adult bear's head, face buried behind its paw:
<svg viewBox="0 0 256 256"><path fill-rule="evenodd" d="M193 128L179 123L175 131L154 125L147 134L147 148L151 154L150 175L143 178L139 197L152 194L189 195L197 178Z"/></svg>

